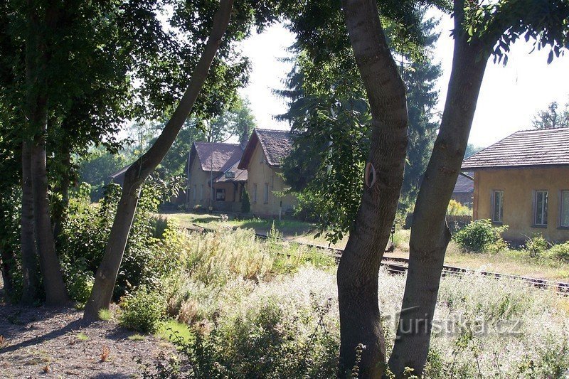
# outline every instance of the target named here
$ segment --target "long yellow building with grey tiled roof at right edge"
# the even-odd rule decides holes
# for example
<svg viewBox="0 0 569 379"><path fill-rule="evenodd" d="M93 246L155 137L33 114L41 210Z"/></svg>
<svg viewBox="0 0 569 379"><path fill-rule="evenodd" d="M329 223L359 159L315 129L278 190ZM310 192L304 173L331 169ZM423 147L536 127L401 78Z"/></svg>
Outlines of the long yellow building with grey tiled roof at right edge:
<svg viewBox="0 0 569 379"><path fill-rule="evenodd" d="M464 160L474 171L474 220L508 225L506 240L569 240L569 128L526 130Z"/></svg>

